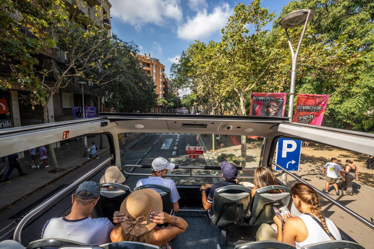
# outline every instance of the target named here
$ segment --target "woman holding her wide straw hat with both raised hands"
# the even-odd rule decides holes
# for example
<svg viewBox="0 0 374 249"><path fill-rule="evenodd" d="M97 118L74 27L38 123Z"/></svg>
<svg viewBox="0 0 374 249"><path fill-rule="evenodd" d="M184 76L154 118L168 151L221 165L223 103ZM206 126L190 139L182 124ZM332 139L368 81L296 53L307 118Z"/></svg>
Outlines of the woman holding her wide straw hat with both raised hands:
<svg viewBox="0 0 374 249"><path fill-rule="evenodd" d="M132 192L114 213L114 223L119 223L110 234L112 242L135 241L171 249L168 242L187 229L187 222L175 215L162 212L160 194L153 189ZM156 224L169 223L158 228Z"/></svg>

